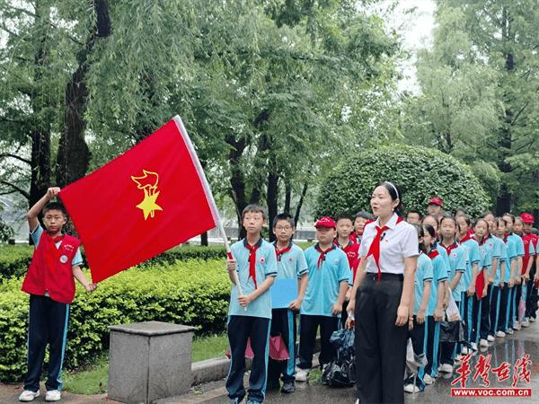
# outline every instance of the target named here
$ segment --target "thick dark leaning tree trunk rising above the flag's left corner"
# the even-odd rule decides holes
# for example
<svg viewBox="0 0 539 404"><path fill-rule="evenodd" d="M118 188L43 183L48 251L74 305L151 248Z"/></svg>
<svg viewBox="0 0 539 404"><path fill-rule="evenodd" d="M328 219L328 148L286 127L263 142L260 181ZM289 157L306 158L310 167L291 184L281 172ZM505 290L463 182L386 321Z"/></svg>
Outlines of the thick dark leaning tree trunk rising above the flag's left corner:
<svg viewBox="0 0 539 404"><path fill-rule="evenodd" d="M85 76L88 72L88 57L97 38L110 36L110 18L105 0L94 0L93 8L96 14L93 32L86 40L84 49L78 52L77 69L66 84L64 128L57 154L57 185L60 187L83 178L90 162L90 150L84 140L84 112L88 96Z"/></svg>

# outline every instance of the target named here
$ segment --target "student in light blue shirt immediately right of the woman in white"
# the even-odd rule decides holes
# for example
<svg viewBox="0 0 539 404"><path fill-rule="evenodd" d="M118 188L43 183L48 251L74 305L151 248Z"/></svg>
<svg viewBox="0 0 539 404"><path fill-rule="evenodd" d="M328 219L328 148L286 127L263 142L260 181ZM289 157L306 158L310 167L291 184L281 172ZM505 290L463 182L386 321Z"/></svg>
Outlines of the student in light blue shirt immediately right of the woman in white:
<svg viewBox="0 0 539 404"><path fill-rule="evenodd" d="M427 308L429 305L430 288L432 285L432 262L427 255L425 244L423 242L424 231L418 224L413 224L418 232L420 241L420 256L418 257L418 268L415 274L414 283L414 304L413 304L413 328L408 331L408 337L411 338L411 345L415 356L418 357L418 362L426 362L426 333L425 319L427 316ZM418 374L414 377L413 374L407 374L404 378L404 391L406 392L419 392L425 389L425 383Z"/></svg>

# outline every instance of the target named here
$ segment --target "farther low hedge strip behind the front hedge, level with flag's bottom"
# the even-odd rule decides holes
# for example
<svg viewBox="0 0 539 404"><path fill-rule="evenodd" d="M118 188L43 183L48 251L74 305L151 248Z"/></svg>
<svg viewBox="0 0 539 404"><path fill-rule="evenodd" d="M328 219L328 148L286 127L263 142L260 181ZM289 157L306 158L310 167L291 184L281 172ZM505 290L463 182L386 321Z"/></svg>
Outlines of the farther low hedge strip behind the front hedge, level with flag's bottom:
<svg viewBox="0 0 539 404"><path fill-rule="evenodd" d="M33 247L29 245L4 245L0 247L0 282L8 277L22 277L30 265ZM141 268L152 268L158 264L173 264L177 260L186 261L188 259L225 259L225 248L223 246L181 246L163 252L153 259L148 259L142 263ZM84 267L86 257L83 250Z"/></svg>

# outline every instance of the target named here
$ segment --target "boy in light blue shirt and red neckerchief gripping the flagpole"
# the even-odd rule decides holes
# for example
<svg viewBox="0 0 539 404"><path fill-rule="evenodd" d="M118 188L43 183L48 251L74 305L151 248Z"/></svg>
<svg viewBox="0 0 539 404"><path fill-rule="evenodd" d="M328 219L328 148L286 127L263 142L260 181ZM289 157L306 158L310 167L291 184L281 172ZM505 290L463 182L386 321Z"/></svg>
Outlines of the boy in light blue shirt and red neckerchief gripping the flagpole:
<svg viewBox="0 0 539 404"><path fill-rule="evenodd" d="M251 338L254 357L249 375L248 403L261 403L266 396L268 347L270 341L270 286L277 277L275 248L261 238L266 211L258 205L245 206L242 213L246 236L231 246L234 259L227 259L228 276L233 282L228 309L227 334L230 344L230 371L226 391L231 403L245 396L245 347ZM235 284L234 271L240 286ZM242 294L240 294L240 291Z"/></svg>

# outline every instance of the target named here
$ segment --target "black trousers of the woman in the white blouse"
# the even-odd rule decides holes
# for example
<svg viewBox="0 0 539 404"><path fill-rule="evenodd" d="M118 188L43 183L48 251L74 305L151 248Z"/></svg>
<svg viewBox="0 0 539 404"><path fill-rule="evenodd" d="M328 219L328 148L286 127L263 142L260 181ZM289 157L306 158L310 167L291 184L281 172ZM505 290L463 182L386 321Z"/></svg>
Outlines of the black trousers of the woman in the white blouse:
<svg viewBox="0 0 539 404"><path fill-rule="evenodd" d="M387 275L387 277L386 277ZM356 295L356 385L365 403L402 403L408 327L395 326L402 277L367 274Z"/></svg>

